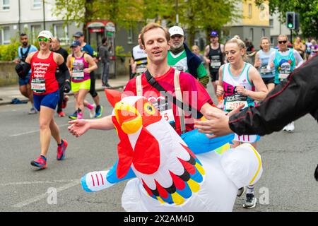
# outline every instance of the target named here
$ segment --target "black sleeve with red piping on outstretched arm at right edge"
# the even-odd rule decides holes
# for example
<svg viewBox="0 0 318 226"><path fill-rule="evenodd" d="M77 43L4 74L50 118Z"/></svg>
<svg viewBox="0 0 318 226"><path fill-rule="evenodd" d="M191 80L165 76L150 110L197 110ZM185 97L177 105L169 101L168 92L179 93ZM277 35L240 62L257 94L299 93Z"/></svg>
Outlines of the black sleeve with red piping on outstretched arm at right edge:
<svg viewBox="0 0 318 226"><path fill-rule="evenodd" d="M230 117L235 133L266 135L307 113L318 121L318 55L274 88L257 107L248 107Z"/></svg>

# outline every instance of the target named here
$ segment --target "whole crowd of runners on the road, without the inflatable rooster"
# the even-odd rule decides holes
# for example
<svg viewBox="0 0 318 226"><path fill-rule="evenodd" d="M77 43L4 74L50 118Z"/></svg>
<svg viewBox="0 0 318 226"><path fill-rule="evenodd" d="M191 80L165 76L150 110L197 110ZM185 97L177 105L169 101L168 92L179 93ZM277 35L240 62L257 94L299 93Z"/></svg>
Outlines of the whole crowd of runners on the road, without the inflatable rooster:
<svg viewBox="0 0 318 226"><path fill-rule="evenodd" d="M30 99L32 105L29 113L39 114L40 156L35 158L31 165L40 169L47 167L51 136L57 142L57 160L63 160L66 148L68 145L71 146L61 138L59 126L54 121L56 110L59 117L65 116L63 109L69 100L67 93L70 90L75 99L75 112L69 115L70 119L74 119L70 121L69 131L74 136L81 136L89 129L114 129L110 116L101 117L103 107L95 90L94 71L98 69L97 62L100 56L84 42L82 32L76 32L73 37L70 45L71 54L68 54L60 47L59 38L53 37L48 30L43 30L37 35L39 50L28 44L28 35L20 35L21 46L18 49L16 71L20 92ZM209 40L204 53L200 54L199 47L187 46L181 27L173 26L166 30L155 23L146 25L139 35L139 44L131 51L131 75L124 91L147 98L150 98L147 91L157 93L158 97L161 95L158 86L172 93L177 86L183 92L187 91L188 95L195 91L197 97L194 99L197 102L191 102L193 98L188 97L187 104L196 110L196 117L204 115L208 119L209 114L226 115L238 107L245 109L258 105L276 86L285 83L290 73L303 64L302 57L310 59L318 51L314 40L304 48L297 39L294 48L290 48L286 35L278 36L277 47L272 46L269 37L262 37L260 49L254 55L252 65L247 57L247 42L237 35L225 44L220 44L218 32L213 30ZM103 43L106 46L107 40ZM248 44L250 47L251 43ZM176 74L178 77L175 77ZM151 78L159 85L150 84ZM217 96L216 103L213 103L206 91L209 81ZM104 83L105 88L110 88L107 77ZM94 103L86 100L88 93L93 97ZM158 110L165 111L167 120L181 137L194 129L194 115L180 116L177 113L180 108L177 102L158 100L158 97L153 105L158 107ZM86 109L92 119L84 119ZM199 126L199 129L204 131L205 127ZM283 128L288 132L294 129L293 122ZM259 139L258 133L235 133L232 147L241 143L251 143L257 147ZM254 184L240 188L237 196L241 196L245 191L243 206L254 208L257 203Z"/></svg>

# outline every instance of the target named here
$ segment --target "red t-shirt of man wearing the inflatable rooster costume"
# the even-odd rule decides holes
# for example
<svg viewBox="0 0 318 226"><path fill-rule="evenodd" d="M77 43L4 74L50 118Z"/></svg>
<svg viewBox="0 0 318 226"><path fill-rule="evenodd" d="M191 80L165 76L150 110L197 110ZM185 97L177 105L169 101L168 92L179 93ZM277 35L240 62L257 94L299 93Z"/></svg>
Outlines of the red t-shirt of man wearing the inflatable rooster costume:
<svg viewBox="0 0 318 226"><path fill-rule="evenodd" d="M163 87L165 90L170 92L175 97L175 85L174 85L174 76L175 75L175 69L170 67L170 70L167 71L163 76L155 78L155 80ZM211 97L206 92L206 89L204 88L199 81L196 81L196 79L190 75L189 73L181 72L179 75L179 83L182 93L182 100L187 105L191 105L192 109L197 109L200 111L201 107L208 102L210 105L213 105L213 101L211 100ZM154 102L158 99L163 99L163 95L160 95L160 92L154 88L151 84L148 83L145 73L141 75L141 85L143 88L143 96L146 97L149 101ZM126 88L124 89L125 95L137 95L136 91L136 78L131 79L127 84ZM159 98L158 98L159 97ZM161 97L161 98L160 98ZM164 100L163 100L164 101ZM179 116L176 113L177 107L170 103L170 106L172 105L172 112L174 116L175 121L175 131L177 133L181 133L180 128L180 121ZM161 109L164 109L163 105L161 105ZM161 113L163 111L160 110ZM194 121L193 117L189 115L187 111L184 111L185 114L185 123L186 123L186 129L187 131L192 131L194 129ZM170 117L171 118L171 117Z"/></svg>

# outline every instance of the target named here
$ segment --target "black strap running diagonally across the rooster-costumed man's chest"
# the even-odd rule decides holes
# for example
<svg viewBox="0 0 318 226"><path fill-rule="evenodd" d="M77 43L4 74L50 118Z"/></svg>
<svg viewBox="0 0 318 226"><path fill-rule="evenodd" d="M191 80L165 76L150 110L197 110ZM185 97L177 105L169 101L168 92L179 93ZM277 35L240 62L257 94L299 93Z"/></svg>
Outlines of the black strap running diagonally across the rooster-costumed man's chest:
<svg viewBox="0 0 318 226"><path fill-rule="evenodd" d="M188 113L192 114L192 117L196 117L196 119L199 119L203 116L201 112L199 112L197 109L192 108L191 105L186 105L184 102L181 102L177 100L176 97L172 96L165 88L163 88L158 81L151 76L151 73L147 70L146 71L146 78L149 84L151 84L156 90L158 90L160 93L164 93L165 97L167 97L168 100L173 102L174 105L177 105L177 107L183 109L184 111L187 111Z"/></svg>

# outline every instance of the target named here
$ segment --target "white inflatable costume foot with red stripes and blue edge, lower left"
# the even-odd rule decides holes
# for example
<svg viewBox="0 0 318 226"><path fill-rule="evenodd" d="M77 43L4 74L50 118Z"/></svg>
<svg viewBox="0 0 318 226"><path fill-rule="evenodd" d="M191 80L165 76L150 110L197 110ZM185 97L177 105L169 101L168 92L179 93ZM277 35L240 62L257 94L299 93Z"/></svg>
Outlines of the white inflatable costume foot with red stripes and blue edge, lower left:
<svg viewBox="0 0 318 226"><path fill-rule="evenodd" d="M100 191L102 189L107 189L113 184L107 181L107 171L95 171L89 172L85 174L81 178L81 184L84 191L93 192L93 191Z"/></svg>

